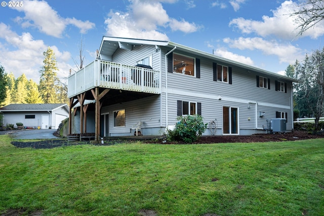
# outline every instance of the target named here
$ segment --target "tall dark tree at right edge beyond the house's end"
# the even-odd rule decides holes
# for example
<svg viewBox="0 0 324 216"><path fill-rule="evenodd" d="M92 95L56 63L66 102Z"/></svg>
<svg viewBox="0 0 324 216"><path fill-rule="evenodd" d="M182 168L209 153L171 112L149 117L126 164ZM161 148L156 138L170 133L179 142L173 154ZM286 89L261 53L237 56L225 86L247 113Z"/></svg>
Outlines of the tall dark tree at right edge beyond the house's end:
<svg viewBox="0 0 324 216"><path fill-rule="evenodd" d="M324 49L316 50L303 63L296 61L296 103L301 116L315 118L314 130L318 130L318 121L323 112L324 103Z"/></svg>

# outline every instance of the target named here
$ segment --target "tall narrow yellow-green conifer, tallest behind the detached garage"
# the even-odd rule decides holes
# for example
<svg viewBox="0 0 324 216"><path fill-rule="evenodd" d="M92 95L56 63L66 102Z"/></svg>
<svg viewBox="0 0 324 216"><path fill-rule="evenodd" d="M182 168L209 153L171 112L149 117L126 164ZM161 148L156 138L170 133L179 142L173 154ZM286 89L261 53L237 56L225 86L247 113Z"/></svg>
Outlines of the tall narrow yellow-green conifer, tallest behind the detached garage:
<svg viewBox="0 0 324 216"><path fill-rule="evenodd" d="M45 103L56 103L59 79L56 71L56 58L54 51L49 47L46 52L43 53L44 65L39 70L41 78L39 79L39 93L41 94Z"/></svg>

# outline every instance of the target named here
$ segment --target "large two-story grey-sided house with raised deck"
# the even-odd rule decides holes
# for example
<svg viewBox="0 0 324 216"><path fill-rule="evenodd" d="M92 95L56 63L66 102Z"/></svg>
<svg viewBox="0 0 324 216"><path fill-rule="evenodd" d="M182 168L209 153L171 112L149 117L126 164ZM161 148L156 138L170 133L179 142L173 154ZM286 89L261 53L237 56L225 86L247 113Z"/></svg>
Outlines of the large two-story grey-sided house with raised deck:
<svg viewBox="0 0 324 216"><path fill-rule="evenodd" d="M266 133L274 118L291 131L293 82L173 42L103 37L97 59L68 78L69 132L132 135L141 121L143 135L160 135L194 114L212 123L204 135Z"/></svg>

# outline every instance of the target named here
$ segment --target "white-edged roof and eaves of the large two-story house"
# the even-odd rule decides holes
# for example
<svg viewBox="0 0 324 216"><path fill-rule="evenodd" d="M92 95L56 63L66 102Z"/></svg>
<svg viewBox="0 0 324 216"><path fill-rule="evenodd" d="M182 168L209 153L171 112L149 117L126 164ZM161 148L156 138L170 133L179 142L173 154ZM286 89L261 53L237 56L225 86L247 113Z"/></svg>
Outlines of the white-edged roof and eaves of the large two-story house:
<svg viewBox="0 0 324 216"><path fill-rule="evenodd" d="M241 68L245 68L245 69L247 69L247 73L249 73L249 71L255 71L255 72L263 74L263 75L268 75L268 76L272 76L272 77L274 76L277 79L284 79L284 80L288 80L291 82L298 82L298 80L293 79L293 78L282 76L282 75L273 73L268 70L264 70L264 69L261 69L261 68L255 67L255 66L250 66L250 65L247 65L244 63L226 59L226 58L216 56L211 53L207 53L207 52L204 52L201 50L190 48L190 47L187 47L187 46L184 46L181 44L177 44L174 42L170 42L170 41L153 41L153 40L130 39L130 38L103 37L97 58L99 58L101 55L112 56L113 53L117 50L117 48L132 50L133 46L143 45L143 44L155 45L156 48L158 48L158 46L163 46L163 47L169 48L170 50L176 48L176 50L182 50L182 51L185 51L190 54L209 58L216 62L222 62L222 63L226 63L226 64L230 64L230 65L235 65L235 66L238 66Z"/></svg>

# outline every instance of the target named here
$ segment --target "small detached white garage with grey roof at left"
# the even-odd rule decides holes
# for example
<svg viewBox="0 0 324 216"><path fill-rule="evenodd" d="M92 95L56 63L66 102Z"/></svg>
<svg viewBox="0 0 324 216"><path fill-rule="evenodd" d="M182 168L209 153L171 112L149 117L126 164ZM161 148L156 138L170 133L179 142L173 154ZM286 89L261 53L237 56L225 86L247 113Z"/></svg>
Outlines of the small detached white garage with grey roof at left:
<svg viewBox="0 0 324 216"><path fill-rule="evenodd" d="M28 103L9 104L0 108L3 125L21 122L24 127L57 129L62 120L68 118L69 107L66 103Z"/></svg>

